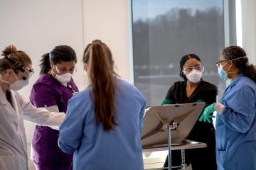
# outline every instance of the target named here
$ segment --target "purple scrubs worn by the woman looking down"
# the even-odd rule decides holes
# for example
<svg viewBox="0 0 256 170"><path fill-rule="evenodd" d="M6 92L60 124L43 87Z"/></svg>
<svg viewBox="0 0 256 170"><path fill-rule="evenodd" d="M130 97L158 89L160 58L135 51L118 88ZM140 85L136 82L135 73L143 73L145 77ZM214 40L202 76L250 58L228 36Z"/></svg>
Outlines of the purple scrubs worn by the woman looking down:
<svg viewBox="0 0 256 170"><path fill-rule="evenodd" d="M37 108L58 106L66 112L68 100L78 92L73 79L63 86L49 74L42 74L31 90L30 100ZM59 131L36 125L31 147L31 159L37 164L65 164L73 161L73 154L65 154L58 147Z"/></svg>

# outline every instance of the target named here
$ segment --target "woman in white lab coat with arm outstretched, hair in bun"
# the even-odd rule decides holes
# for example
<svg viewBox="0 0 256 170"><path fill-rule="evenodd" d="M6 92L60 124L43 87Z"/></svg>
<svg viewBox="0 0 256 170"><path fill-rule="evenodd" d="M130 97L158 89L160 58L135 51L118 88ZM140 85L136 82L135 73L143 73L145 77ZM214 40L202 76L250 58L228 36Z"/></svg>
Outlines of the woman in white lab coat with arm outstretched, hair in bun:
<svg viewBox="0 0 256 170"><path fill-rule="evenodd" d="M27 170L27 142L23 120L58 127L65 113L35 108L17 90L28 84L33 74L31 59L14 45L6 47L0 59L0 169Z"/></svg>

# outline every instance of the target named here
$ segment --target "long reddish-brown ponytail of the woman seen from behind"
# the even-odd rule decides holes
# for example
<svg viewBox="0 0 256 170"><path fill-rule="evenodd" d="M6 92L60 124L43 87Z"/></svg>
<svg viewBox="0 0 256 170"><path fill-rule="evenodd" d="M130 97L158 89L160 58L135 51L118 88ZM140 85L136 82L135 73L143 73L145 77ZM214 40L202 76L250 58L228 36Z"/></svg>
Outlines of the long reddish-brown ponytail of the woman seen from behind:
<svg viewBox="0 0 256 170"><path fill-rule="evenodd" d="M110 49L100 40L92 42L84 53L83 61L90 66L92 100L95 104L95 121L105 131L114 130L114 72ZM85 62L86 63L86 62Z"/></svg>

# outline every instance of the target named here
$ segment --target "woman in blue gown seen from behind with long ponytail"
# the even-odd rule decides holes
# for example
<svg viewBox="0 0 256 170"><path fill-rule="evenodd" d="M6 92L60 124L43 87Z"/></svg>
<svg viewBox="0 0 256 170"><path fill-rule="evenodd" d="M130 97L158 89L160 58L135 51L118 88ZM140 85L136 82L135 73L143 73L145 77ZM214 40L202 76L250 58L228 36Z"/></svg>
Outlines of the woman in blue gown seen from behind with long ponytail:
<svg viewBox="0 0 256 170"><path fill-rule="evenodd" d="M74 170L142 170L144 97L117 79L110 48L100 40L87 45L83 62L90 86L68 102L60 149L74 153Z"/></svg>

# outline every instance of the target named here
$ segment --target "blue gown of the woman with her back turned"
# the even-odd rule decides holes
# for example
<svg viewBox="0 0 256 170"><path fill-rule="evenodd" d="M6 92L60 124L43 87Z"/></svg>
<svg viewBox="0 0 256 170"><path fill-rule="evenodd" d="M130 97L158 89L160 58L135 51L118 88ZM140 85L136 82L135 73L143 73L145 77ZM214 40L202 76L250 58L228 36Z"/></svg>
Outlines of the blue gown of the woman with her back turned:
<svg viewBox="0 0 256 170"><path fill-rule="evenodd" d="M74 153L75 170L142 170L142 119L146 101L142 94L125 81L115 79L117 124L103 131L95 124L95 110L90 88L76 94L68 102L64 123L60 126L59 146Z"/></svg>

